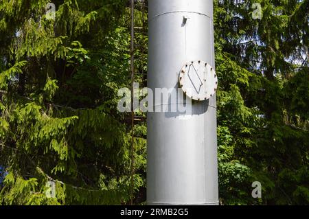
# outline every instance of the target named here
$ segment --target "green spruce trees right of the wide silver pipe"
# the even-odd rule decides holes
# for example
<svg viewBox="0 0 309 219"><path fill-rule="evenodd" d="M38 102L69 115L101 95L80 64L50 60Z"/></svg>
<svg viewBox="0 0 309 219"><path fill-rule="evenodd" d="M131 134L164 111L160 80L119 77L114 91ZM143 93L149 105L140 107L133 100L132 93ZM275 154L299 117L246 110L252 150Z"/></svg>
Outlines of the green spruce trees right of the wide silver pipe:
<svg viewBox="0 0 309 219"><path fill-rule="evenodd" d="M216 1L222 203L309 201L308 3Z"/></svg>

